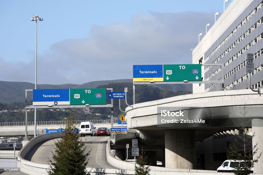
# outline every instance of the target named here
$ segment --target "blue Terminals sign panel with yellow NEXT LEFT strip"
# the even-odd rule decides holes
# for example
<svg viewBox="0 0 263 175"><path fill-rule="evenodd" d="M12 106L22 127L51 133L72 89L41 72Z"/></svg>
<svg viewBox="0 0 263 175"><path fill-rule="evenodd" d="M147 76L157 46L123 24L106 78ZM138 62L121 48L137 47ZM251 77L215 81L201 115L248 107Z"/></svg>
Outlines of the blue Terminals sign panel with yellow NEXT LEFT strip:
<svg viewBox="0 0 263 175"><path fill-rule="evenodd" d="M133 81L163 81L163 65L133 65Z"/></svg>

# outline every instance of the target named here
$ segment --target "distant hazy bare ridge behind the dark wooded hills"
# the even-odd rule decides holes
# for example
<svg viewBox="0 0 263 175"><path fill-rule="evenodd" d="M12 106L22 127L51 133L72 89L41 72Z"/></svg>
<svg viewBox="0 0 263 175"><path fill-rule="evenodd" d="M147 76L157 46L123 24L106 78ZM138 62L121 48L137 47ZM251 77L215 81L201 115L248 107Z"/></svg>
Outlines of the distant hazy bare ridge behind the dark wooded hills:
<svg viewBox="0 0 263 175"><path fill-rule="evenodd" d="M104 81L91 81L81 85L77 84L62 84L62 85L49 85L38 84L37 89L82 89L82 88L97 88L101 85L108 85L110 83L123 83L132 82L132 79L119 79L119 80L104 80ZM162 89L169 89L171 91L178 90L192 90L191 84L154 84L154 87ZM13 102L25 102L25 90L35 89L33 83L27 82L11 82L0 81L0 103L10 104ZM32 100L32 93L28 94L28 102Z"/></svg>

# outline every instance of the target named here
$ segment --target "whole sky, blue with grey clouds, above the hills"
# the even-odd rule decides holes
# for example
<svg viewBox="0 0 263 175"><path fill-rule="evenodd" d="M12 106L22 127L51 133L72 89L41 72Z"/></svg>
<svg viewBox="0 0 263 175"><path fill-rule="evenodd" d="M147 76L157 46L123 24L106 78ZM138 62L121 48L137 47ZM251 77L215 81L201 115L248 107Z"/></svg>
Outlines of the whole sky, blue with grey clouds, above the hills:
<svg viewBox="0 0 263 175"><path fill-rule="evenodd" d="M227 6L232 2L225 3ZM130 79L134 64L191 64L191 48L223 0L0 1L1 81Z"/></svg>

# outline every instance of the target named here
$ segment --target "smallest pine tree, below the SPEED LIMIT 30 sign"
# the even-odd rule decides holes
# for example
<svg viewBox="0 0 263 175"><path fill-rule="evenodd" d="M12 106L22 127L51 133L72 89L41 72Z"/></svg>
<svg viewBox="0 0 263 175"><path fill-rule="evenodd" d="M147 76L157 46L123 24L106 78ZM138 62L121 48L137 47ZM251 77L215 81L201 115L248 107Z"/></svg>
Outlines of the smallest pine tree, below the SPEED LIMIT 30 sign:
<svg viewBox="0 0 263 175"><path fill-rule="evenodd" d="M150 175L151 168L149 166L145 166L147 163L147 155L145 152L141 151L139 156L139 161L137 162L138 166L135 166L135 174L134 175Z"/></svg>

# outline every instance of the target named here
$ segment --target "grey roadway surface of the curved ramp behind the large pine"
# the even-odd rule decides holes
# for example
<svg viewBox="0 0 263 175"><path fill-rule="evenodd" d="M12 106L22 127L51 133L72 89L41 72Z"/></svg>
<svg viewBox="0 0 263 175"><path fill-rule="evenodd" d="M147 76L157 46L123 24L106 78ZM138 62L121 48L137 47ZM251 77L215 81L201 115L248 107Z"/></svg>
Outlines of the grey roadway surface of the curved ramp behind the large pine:
<svg viewBox="0 0 263 175"><path fill-rule="evenodd" d="M60 138L58 138L60 139ZM58 139L49 140L47 142L41 142L35 145L31 149L31 153L27 154L25 159L35 163L48 164L48 158L53 161L52 152L55 152L55 143ZM90 149L90 155L88 156L89 163L87 168L109 168L115 169L115 167L108 164L106 159L106 146L108 136L100 136L100 137L81 137L81 140L85 142L87 146L85 153L87 153Z"/></svg>

